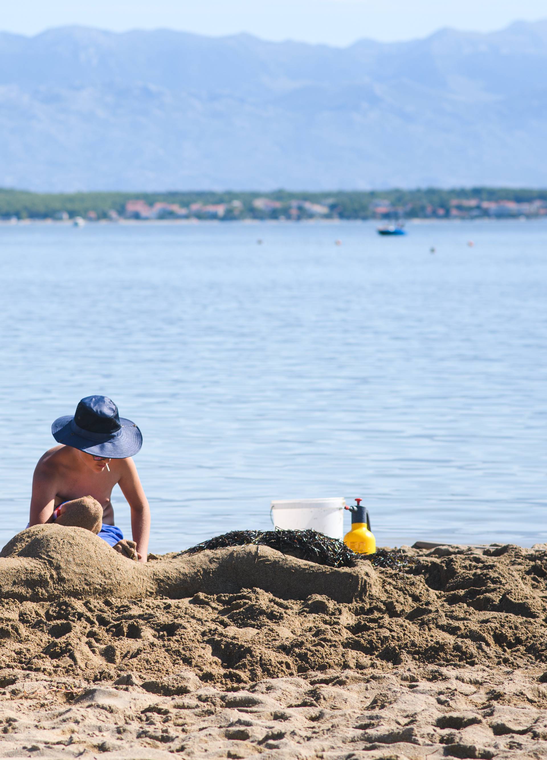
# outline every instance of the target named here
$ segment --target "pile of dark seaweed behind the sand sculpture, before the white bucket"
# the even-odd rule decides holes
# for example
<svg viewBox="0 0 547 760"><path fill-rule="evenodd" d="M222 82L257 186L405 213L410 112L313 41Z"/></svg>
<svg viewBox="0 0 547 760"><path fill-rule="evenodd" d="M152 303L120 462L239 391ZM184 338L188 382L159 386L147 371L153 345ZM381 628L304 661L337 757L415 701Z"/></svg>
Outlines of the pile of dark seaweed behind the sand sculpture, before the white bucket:
<svg viewBox="0 0 547 760"><path fill-rule="evenodd" d="M270 546L283 554L291 554L308 562L331 568L355 567L360 560L368 560L374 567L403 571L410 564L409 557L390 549L378 549L375 554L356 554L343 541L330 538L317 530L230 530L222 536L185 549L183 554L197 554L207 549L225 549L228 546L248 544Z"/></svg>

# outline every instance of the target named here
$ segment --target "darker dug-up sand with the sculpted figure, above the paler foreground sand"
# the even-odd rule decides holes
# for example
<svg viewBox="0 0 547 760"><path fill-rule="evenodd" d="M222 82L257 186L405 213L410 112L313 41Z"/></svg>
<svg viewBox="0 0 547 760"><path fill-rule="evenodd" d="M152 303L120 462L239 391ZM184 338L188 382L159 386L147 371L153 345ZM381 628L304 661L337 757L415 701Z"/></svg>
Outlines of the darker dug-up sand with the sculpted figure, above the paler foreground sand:
<svg viewBox="0 0 547 760"><path fill-rule="evenodd" d="M256 546L138 565L84 530L36 526L2 551L0 665L138 673L172 693L164 679L188 669L245 683L333 668L547 662L544 549L408 553L410 574L366 562L325 568Z"/></svg>

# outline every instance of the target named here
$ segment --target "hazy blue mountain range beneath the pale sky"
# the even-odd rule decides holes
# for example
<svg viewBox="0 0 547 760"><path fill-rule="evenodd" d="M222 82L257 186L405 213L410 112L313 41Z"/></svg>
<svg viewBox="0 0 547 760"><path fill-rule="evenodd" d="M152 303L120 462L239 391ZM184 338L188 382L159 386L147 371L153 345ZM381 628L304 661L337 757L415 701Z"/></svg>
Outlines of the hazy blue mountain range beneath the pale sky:
<svg viewBox="0 0 547 760"><path fill-rule="evenodd" d="M344 49L0 33L0 186L547 185L547 21Z"/></svg>

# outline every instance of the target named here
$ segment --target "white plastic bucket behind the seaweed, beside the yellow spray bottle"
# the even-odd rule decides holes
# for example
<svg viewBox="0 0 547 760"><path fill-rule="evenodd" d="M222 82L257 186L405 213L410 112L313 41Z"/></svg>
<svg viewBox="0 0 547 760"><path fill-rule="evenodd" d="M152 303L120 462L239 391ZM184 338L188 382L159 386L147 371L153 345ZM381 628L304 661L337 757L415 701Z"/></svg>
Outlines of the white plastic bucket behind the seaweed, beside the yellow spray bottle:
<svg viewBox="0 0 547 760"><path fill-rule="evenodd" d="M343 539L343 508L346 502L337 499L291 499L271 502L271 518L283 530L318 530L325 536Z"/></svg>

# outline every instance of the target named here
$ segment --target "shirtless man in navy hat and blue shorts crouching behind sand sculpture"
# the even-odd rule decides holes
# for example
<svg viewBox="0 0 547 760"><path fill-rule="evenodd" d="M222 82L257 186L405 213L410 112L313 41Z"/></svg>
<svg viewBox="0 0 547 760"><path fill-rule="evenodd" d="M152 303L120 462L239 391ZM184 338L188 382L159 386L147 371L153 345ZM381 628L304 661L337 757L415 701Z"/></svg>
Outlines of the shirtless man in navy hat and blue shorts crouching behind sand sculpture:
<svg viewBox="0 0 547 760"><path fill-rule="evenodd" d="M150 507L131 457L142 435L131 420L120 419L106 396L87 396L74 416L52 425L60 445L40 458L33 477L30 525L56 522L85 527L113 549L139 562L147 561ZM133 541L114 524L110 496L118 483L131 508Z"/></svg>

